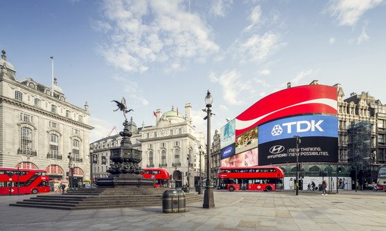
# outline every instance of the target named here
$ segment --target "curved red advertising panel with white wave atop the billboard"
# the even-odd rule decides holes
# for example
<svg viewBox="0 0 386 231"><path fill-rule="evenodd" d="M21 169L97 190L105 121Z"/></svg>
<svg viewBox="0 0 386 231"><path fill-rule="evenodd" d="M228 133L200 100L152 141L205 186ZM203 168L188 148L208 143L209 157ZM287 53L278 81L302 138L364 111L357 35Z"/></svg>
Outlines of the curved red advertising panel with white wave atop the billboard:
<svg viewBox="0 0 386 231"><path fill-rule="evenodd" d="M319 84L296 86L267 95L236 117L236 137L263 122L304 113L336 115L336 87Z"/></svg>

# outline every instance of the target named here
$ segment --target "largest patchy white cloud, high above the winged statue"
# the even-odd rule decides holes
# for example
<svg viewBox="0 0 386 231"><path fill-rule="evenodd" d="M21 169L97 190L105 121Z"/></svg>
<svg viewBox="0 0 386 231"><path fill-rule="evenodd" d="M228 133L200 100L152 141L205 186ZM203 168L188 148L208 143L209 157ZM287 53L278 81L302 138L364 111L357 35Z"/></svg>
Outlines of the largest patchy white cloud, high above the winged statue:
<svg viewBox="0 0 386 231"><path fill-rule="evenodd" d="M137 73L154 63L170 61L167 69L179 70L191 59L206 60L219 47L209 26L183 5L181 0L103 1L104 20L93 27L109 38L98 53L112 66Z"/></svg>

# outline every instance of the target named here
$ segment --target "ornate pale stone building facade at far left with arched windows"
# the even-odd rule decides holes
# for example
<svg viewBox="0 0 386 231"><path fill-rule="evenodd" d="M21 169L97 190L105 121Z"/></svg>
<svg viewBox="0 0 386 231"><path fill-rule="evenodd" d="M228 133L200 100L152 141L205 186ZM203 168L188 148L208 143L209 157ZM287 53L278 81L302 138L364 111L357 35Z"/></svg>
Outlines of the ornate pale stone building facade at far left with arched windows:
<svg viewBox="0 0 386 231"><path fill-rule="evenodd" d="M67 102L54 79L48 87L31 78L17 80L3 50L0 59L0 167L45 169L66 180L69 158L78 181L89 173L89 110Z"/></svg>

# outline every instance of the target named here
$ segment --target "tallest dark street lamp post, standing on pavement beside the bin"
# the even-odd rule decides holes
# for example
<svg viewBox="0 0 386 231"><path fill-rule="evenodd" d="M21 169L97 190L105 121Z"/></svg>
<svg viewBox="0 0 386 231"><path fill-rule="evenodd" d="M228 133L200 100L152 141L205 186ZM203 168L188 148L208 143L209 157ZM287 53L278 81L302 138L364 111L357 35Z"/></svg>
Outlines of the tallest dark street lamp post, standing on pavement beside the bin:
<svg viewBox="0 0 386 231"><path fill-rule="evenodd" d="M203 111L207 112L207 116L204 117L204 120L207 120L207 185L205 187L204 192L204 203L202 205L203 208L210 209L214 208L214 196L213 196L213 189L211 189L211 176L210 176L210 163L209 163L209 156L211 153L211 107L213 98L211 96L211 93L207 92L207 96L205 97L205 104L207 105L207 109L204 109Z"/></svg>

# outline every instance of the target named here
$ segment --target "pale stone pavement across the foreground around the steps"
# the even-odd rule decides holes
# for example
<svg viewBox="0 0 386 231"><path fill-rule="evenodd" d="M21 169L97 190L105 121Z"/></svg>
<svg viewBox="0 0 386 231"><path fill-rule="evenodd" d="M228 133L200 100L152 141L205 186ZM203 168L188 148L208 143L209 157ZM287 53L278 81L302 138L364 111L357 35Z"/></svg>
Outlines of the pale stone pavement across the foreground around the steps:
<svg viewBox="0 0 386 231"><path fill-rule="evenodd" d="M215 208L198 202L186 205L187 212L169 214L161 206L75 211L9 206L30 196L0 196L0 230L386 230L385 192L215 191Z"/></svg>

